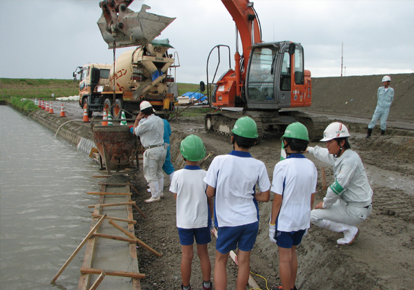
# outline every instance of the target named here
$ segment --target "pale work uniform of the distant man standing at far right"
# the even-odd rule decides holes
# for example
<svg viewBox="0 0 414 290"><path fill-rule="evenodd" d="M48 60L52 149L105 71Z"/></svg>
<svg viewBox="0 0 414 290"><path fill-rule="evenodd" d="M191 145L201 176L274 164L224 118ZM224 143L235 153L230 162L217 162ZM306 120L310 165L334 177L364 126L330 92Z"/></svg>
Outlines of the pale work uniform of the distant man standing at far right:
<svg viewBox="0 0 414 290"><path fill-rule="evenodd" d="M388 89L381 86L378 88L377 92L377 107L375 108L375 112L373 115L373 119L368 124L368 128L373 129L377 120L381 117L381 130L385 131L386 129L386 119L388 118L388 114L390 113L390 107L393 103L394 99L394 89L388 87Z"/></svg>

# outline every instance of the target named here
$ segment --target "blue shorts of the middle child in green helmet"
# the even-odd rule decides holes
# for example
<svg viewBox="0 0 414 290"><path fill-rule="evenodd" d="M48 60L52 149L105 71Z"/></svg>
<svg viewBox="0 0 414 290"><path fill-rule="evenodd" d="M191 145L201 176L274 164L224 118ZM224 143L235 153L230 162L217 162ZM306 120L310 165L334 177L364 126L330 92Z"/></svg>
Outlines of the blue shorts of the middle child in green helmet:
<svg viewBox="0 0 414 290"><path fill-rule="evenodd" d="M221 226L217 231L216 249L226 254L238 247L242 251L251 251L256 242L259 222L243 226Z"/></svg>

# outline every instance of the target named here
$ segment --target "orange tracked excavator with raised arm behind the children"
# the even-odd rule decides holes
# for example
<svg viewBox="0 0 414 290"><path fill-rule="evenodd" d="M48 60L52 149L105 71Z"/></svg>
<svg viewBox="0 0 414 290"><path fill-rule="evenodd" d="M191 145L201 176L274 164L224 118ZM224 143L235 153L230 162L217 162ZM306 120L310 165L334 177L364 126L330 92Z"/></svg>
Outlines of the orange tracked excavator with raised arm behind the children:
<svg viewBox="0 0 414 290"><path fill-rule="evenodd" d="M132 17L128 18L124 12L119 12L118 20L115 13L116 10L121 10L132 1L108 0L99 4L103 10L103 17L106 19L106 35L102 32L101 26L99 27L109 46L117 37L119 39L124 37L130 43L143 44L142 41L148 41L148 37L144 37L145 33L142 31L139 32L142 36L139 33L132 35L133 29L131 29L128 32L129 37L128 33L121 31L121 29L125 30L126 26L129 28L137 27L130 20ZM230 48L226 46L229 55L229 68L215 81L219 67L217 64L213 80L209 81L208 61L210 56L215 50L220 55L220 49L224 46L215 46L211 50L207 61L207 95L210 106L220 110L206 114L206 131L230 134L235 121L242 115L248 115L257 123L258 142L265 132L279 135L284 132L288 124L293 122L304 124L308 128L311 139L314 139L313 136L319 137L323 132L324 124L318 126L317 119L311 118L305 113L282 110L284 108L307 107L312 103L311 72L304 69L302 45L292 41L262 41L262 29L253 2L248 0L221 0L221 2L236 24L235 68L230 67ZM142 9L145 10L144 6ZM112 7L112 12L107 9L108 7ZM146 7L148 8L148 6ZM139 19L139 16L136 19ZM131 21L131 23L126 25L126 21ZM144 28L144 26L141 25L139 28ZM238 47L239 36L242 41L242 55L239 53ZM205 90L204 82L200 83L200 88L202 91Z"/></svg>

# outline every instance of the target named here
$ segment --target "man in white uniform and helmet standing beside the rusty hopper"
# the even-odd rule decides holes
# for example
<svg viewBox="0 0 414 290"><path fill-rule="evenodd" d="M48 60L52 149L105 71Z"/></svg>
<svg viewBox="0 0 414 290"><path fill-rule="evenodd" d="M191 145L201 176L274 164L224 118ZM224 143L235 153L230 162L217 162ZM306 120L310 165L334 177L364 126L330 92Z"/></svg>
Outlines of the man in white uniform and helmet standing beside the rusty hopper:
<svg viewBox="0 0 414 290"><path fill-rule="evenodd" d="M164 189L164 173L162 166L166 160L167 150L164 147L164 122L154 115L154 109L148 101L139 105L141 112L134 123L135 135L139 136L144 152L144 177L150 185L151 197L146 203L159 202L160 190Z"/></svg>

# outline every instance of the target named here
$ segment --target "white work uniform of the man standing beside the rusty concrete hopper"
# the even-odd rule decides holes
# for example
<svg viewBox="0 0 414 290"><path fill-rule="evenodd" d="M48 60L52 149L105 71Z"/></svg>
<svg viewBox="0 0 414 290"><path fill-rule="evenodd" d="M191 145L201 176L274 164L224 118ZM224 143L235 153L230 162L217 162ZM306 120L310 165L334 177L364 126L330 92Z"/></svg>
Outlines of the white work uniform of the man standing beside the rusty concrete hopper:
<svg viewBox="0 0 414 290"><path fill-rule="evenodd" d="M139 136L141 144L146 148L144 152L144 177L148 183L158 182L164 178L162 166L166 160L164 148L164 122L156 115L149 115L139 120L135 128L135 135Z"/></svg>

